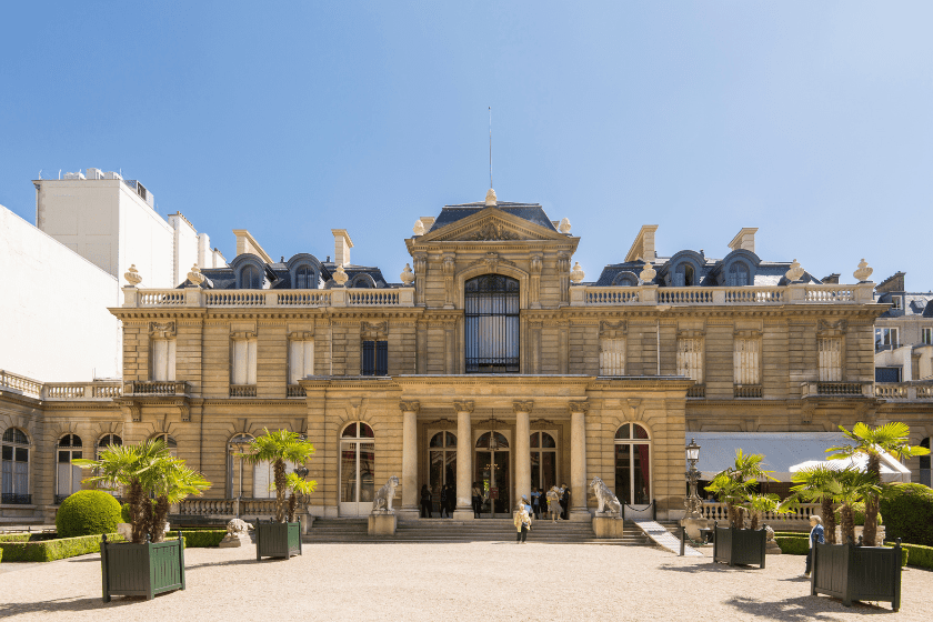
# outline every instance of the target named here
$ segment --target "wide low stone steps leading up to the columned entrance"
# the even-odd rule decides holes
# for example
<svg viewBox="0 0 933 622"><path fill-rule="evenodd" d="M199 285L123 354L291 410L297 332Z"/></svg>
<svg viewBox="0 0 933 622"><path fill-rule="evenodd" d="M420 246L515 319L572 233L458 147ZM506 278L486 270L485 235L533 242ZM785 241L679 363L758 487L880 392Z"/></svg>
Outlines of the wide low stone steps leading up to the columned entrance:
<svg viewBox="0 0 933 622"><path fill-rule="evenodd" d="M513 542L515 528L509 519L480 519L454 521L452 519L419 519L399 521L394 536L371 536L367 533L365 519L317 519L302 542L314 543L470 543ZM546 544L615 544L649 545L641 531L626 521L624 535L619 539L596 539L590 522L535 521L529 542Z"/></svg>

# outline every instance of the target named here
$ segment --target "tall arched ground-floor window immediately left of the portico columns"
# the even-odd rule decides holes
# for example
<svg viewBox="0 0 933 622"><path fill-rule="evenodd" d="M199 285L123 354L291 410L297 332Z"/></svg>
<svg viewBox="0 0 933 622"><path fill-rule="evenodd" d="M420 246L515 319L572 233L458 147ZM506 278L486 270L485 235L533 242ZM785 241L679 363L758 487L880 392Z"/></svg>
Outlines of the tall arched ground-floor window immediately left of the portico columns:
<svg viewBox="0 0 933 622"><path fill-rule="evenodd" d="M368 424L350 423L340 434L340 513L362 516L375 493L375 434Z"/></svg>

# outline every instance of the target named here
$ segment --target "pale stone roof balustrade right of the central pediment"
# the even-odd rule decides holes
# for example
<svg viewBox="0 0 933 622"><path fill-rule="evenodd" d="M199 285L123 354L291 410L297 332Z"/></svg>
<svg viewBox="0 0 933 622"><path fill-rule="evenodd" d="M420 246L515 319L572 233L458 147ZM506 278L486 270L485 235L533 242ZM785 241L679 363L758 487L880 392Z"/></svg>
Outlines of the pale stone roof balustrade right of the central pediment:
<svg viewBox="0 0 933 622"><path fill-rule="evenodd" d="M722 288L666 288L658 285L570 288L572 307L701 305L701 304L853 304L873 301L874 283L823 285L812 283L782 287L749 285Z"/></svg>

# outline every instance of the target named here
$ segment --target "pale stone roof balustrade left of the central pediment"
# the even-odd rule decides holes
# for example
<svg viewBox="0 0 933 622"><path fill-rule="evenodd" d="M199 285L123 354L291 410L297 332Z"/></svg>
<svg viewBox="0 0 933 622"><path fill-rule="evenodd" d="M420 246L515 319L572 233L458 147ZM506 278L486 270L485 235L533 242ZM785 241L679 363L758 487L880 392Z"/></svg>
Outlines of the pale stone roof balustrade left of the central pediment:
<svg viewBox="0 0 933 622"><path fill-rule="evenodd" d="M414 288L149 290L123 288L123 307L414 307Z"/></svg>

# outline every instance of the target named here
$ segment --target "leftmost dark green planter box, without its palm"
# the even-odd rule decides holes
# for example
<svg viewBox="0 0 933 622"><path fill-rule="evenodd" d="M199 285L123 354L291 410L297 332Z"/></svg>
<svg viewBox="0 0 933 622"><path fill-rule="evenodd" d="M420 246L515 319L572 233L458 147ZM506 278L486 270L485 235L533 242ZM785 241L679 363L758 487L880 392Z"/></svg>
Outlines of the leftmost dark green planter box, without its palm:
<svg viewBox="0 0 933 622"><path fill-rule="evenodd" d="M184 590L184 539L165 542L100 542L103 602L112 596L146 596Z"/></svg>

